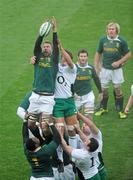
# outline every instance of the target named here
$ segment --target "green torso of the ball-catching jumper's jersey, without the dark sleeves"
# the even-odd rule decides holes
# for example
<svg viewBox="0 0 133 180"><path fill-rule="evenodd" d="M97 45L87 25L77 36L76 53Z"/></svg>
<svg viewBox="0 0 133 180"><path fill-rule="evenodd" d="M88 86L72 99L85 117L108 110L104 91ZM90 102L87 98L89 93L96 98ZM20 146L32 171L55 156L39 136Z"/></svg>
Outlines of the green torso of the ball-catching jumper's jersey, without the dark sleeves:
<svg viewBox="0 0 133 180"><path fill-rule="evenodd" d="M43 55L34 65L33 91L53 93L58 68L53 62L53 56Z"/></svg>

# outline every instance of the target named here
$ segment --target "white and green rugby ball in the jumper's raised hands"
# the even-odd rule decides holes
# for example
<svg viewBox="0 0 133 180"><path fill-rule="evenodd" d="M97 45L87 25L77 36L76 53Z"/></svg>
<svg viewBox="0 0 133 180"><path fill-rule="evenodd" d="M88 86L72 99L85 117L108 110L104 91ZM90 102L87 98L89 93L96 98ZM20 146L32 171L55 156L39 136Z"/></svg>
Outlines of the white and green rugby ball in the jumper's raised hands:
<svg viewBox="0 0 133 180"><path fill-rule="evenodd" d="M47 36L51 30L51 27L52 25L49 21L44 22L39 29L40 36Z"/></svg>

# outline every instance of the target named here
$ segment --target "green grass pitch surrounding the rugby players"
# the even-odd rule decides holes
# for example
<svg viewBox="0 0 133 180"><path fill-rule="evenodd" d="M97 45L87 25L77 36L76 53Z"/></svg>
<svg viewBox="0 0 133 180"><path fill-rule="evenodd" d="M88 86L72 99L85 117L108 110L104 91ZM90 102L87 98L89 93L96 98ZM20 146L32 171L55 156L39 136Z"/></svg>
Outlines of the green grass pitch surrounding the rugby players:
<svg viewBox="0 0 133 180"><path fill-rule="evenodd" d="M23 154L21 120L16 109L31 91L33 67L29 64L41 23L55 16L60 40L73 52L85 48L89 61L109 21L121 25L121 35L133 50L132 0L1 0L0 1L0 179L27 180L30 167ZM51 39L51 36L48 36ZM125 104L133 83L132 59L124 66ZM97 95L97 91L94 87ZM109 113L94 121L103 132L103 155L109 180L133 179L133 108L120 120L110 88Z"/></svg>

